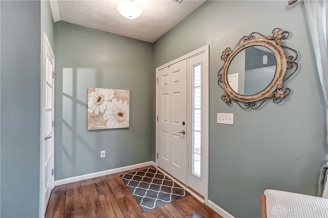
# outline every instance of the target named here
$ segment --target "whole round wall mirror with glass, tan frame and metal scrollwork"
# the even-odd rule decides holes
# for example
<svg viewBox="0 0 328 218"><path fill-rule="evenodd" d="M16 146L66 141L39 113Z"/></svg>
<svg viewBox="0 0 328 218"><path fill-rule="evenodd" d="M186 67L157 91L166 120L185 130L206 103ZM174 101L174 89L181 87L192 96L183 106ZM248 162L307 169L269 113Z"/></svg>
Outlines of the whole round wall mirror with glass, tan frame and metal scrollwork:
<svg viewBox="0 0 328 218"><path fill-rule="evenodd" d="M282 44L289 35L280 28L270 36L253 32L242 37L234 49L222 52L218 85L227 105L236 102L245 110L258 109L268 98L280 103L291 93L283 82L297 71L298 53Z"/></svg>

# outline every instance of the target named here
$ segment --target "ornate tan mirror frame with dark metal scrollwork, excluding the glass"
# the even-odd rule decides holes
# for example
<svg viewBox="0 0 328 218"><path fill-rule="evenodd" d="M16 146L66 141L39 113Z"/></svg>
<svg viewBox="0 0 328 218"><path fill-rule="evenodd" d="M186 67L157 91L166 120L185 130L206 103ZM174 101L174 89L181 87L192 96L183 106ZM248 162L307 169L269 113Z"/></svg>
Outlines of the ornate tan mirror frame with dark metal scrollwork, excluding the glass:
<svg viewBox="0 0 328 218"><path fill-rule="evenodd" d="M221 60L224 64L218 72L218 85L224 90L221 98L228 106L232 106L232 102L236 102L244 110L258 109L268 98L271 98L274 103L280 103L291 93L290 88L283 88L283 82L297 71L298 53L282 44L282 40L288 38L289 35L288 31L280 28L275 28L270 36L253 32L248 36L243 36L234 49L228 47L222 52ZM228 68L238 52L251 46L268 48L276 58L276 71L271 83L262 91L253 95L241 95L229 85ZM287 56L286 53L292 53L292 55Z"/></svg>

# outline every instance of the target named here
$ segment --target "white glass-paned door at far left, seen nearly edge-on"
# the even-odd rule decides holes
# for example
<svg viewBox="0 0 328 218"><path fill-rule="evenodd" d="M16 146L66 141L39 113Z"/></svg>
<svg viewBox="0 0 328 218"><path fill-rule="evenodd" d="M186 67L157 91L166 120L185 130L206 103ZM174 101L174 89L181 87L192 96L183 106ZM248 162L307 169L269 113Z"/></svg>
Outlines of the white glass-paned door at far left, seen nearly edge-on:
<svg viewBox="0 0 328 218"><path fill-rule="evenodd" d="M51 190L54 187L54 66L55 56L46 33L44 33L44 69L43 69L43 130L42 130L42 168L41 168L41 206L44 216Z"/></svg>

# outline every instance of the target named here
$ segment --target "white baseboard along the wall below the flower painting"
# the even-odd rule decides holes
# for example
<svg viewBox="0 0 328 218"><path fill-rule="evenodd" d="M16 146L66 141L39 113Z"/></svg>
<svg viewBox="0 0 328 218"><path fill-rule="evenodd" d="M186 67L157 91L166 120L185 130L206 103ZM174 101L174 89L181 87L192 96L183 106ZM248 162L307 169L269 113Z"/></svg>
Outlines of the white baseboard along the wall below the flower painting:
<svg viewBox="0 0 328 218"><path fill-rule="evenodd" d="M122 171L133 170L133 169L136 169L139 167L147 167L149 165L153 165L156 167L156 164L153 161L149 161L149 162L145 162L145 163L141 163L141 164L134 164L134 165L126 166L126 167L119 167L119 168L115 168L115 169L111 169L111 170L104 170L104 171L100 171L100 172L94 172L94 173L90 173L90 174L74 176L74 177L70 177L67 179L63 179L63 180L56 180L54 182L54 185L55 186L65 185L65 184L74 183L74 182L78 182L78 181L82 181L82 180L93 179L95 177L99 177L99 176L103 176L103 175L109 175L109 174L118 173L118 172L122 172Z"/></svg>

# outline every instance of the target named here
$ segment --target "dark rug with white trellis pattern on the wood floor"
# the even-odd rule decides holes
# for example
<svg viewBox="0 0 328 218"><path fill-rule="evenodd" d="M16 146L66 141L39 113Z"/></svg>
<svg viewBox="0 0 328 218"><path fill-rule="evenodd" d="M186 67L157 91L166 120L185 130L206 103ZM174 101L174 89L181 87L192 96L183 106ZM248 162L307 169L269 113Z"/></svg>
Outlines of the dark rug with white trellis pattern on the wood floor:
<svg viewBox="0 0 328 218"><path fill-rule="evenodd" d="M190 194L155 168L120 176L144 212Z"/></svg>

